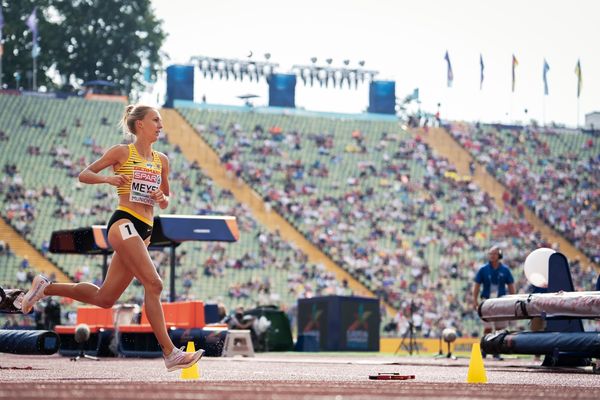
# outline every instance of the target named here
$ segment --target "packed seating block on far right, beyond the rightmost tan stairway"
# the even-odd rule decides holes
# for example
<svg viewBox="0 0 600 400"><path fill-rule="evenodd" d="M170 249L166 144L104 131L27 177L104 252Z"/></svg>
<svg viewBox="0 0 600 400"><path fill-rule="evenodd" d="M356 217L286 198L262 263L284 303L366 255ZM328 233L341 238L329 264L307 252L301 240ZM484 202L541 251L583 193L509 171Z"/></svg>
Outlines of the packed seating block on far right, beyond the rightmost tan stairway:
<svg viewBox="0 0 600 400"><path fill-rule="evenodd" d="M600 138L568 129L455 123L450 133L509 190L600 263Z"/></svg>

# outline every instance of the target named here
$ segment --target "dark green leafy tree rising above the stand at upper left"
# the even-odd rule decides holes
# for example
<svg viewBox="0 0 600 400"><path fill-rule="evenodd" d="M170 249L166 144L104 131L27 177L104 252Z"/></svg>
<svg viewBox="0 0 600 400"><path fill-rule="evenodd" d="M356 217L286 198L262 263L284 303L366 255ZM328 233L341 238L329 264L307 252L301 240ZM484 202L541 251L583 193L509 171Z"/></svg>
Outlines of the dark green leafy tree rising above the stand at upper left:
<svg viewBox="0 0 600 400"><path fill-rule="evenodd" d="M128 94L141 85L142 66L157 71L166 37L150 0L29 0L4 2L4 82L31 71L31 32L25 20L37 7L38 85L65 90L106 80ZM11 83L12 82L12 83ZM25 81L21 86L28 87Z"/></svg>

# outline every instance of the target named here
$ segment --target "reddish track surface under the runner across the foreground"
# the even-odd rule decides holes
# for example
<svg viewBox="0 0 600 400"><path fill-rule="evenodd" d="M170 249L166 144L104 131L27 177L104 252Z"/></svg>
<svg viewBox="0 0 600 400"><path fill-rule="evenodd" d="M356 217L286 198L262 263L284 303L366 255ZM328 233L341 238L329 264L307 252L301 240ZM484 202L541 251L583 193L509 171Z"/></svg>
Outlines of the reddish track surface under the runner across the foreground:
<svg viewBox="0 0 600 400"><path fill-rule="evenodd" d="M0 355L0 399L579 399L598 398L591 369L548 370L523 360L486 360L487 384L465 383L468 359L259 354L205 358L201 378L182 381L162 360ZM23 369L25 368L25 369ZM31 369L28 369L31 368ZM371 374L415 375L372 381Z"/></svg>

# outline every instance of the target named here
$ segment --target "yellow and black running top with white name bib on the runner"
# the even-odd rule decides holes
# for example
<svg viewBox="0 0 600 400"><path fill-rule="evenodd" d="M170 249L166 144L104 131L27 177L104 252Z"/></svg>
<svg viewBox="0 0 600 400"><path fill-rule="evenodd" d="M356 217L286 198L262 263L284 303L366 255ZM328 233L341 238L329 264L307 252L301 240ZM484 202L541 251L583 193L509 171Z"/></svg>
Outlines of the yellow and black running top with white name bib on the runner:
<svg viewBox="0 0 600 400"><path fill-rule="evenodd" d="M160 187L162 162L156 151L152 152L152 161L142 158L135 146L130 144L129 157L115 174L129 176L131 183L117 187L117 194L129 194L129 201L153 206L150 193Z"/></svg>

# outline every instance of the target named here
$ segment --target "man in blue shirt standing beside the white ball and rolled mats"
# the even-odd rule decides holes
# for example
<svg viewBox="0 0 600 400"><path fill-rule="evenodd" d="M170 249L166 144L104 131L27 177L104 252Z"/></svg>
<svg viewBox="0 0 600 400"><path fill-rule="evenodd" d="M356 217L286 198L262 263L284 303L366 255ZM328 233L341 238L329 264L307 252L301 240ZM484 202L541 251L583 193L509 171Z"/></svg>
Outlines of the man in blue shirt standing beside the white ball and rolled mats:
<svg viewBox="0 0 600 400"><path fill-rule="evenodd" d="M481 301L504 296L507 292L515 294L515 280L510 272L510 269L502 264L502 251L498 246L494 246L488 253L489 262L479 268L475 275L475 284L473 285L473 302L475 309L479 306L479 292L481 290ZM486 335L496 330L504 329L508 326L506 321L499 322L484 322L483 334ZM485 354L484 354L485 357ZM499 355L494 355L500 359Z"/></svg>

